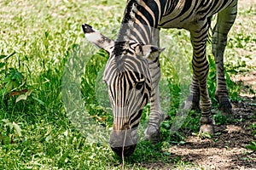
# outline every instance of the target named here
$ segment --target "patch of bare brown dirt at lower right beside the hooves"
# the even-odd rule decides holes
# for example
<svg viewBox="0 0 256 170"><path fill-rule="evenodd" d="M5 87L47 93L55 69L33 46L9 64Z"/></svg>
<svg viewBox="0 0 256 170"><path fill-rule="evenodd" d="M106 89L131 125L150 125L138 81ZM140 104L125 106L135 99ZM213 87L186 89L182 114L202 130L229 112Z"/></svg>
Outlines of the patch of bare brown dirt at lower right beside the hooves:
<svg viewBox="0 0 256 170"><path fill-rule="evenodd" d="M219 135L213 139L190 136L185 144L169 149L173 158L181 156L183 161L203 169L256 169L256 153L245 148L251 141L256 141L250 128L256 123L256 99L244 99L233 103L234 118L241 121L217 126Z"/></svg>

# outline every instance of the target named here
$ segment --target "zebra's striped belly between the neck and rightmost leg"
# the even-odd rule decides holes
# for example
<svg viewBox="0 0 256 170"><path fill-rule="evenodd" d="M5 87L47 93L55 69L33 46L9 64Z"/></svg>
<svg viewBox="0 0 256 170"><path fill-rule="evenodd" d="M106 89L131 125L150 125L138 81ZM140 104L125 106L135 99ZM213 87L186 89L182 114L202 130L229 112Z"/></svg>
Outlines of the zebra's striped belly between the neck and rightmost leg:
<svg viewBox="0 0 256 170"><path fill-rule="evenodd" d="M203 3L201 3L203 1ZM207 18L227 8L237 0L200 0L190 1L190 8L183 10L189 0L178 1L176 8L168 14L163 14L160 19L160 28L183 28L189 31L198 29ZM215 4L217 2L217 4ZM212 5L215 4L215 5Z"/></svg>

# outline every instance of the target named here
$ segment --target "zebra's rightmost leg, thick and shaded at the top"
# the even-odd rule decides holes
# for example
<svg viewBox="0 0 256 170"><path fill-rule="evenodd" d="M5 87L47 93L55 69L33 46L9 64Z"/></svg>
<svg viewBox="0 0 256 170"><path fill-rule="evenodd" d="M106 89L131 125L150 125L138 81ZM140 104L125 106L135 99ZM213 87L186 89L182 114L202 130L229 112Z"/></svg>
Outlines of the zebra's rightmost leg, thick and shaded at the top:
<svg viewBox="0 0 256 170"><path fill-rule="evenodd" d="M224 49L227 44L227 35L236 19L237 2L231 4L218 13L217 24L212 35L212 54L215 58L217 71L217 88L215 98L218 100L219 110L226 116L232 113L232 106L229 100L229 93L224 77Z"/></svg>

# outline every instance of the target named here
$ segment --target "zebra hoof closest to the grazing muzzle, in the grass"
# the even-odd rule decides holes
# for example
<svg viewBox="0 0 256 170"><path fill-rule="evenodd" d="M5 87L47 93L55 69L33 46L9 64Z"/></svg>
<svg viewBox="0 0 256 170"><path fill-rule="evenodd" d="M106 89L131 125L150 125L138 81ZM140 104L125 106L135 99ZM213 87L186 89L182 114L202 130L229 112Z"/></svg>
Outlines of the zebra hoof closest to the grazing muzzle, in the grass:
<svg viewBox="0 0 256 170"><path fill-rule="evenodd" d="M158 128L148 127L145 131L145 140L149 140L152 144L157 144L161 141L161 134Z"/></svg>

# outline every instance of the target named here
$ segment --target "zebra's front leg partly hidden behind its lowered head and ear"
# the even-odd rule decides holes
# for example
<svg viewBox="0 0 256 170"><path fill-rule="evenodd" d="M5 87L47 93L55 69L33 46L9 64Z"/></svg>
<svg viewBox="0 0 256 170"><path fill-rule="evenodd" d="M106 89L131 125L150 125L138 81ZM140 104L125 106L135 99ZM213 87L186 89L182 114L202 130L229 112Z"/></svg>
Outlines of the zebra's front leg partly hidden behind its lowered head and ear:
<svg viewBox="0 0 256 170"><path fill-rule="evenodd" d="M154 39L153 44L160 46L160 30L154 29ZM149 61L149 70L151 74L151 81L152 81L152 92L150 96L150 116L148 127L145 130L145 139L150 140L152 144L156 144L160 142L160 123L164 120L164 114L160 108L160 94L159 94L159 82L160 82L160 63L159 57L154 61Z"/></svg>

